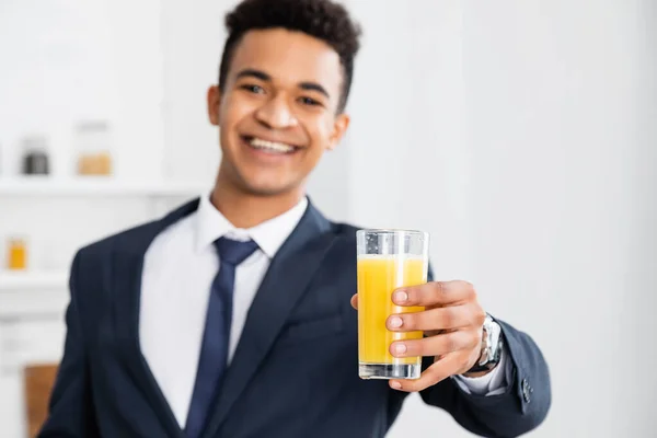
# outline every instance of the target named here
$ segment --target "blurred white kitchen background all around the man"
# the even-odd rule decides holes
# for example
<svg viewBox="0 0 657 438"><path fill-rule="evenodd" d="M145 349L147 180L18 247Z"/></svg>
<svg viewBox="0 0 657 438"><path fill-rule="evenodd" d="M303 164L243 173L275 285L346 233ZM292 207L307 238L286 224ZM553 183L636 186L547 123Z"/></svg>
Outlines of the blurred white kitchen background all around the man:
<svg viewBox="0 0 657 438"><path fill-rule="evenodd" d="M234 3L0 0L1 437L43 415L74 251L211 187ZM657 1L345 3L353 125L314 203L426 229L437 277L532 335L553 404L530 436L654 437ZM471 436L413 395L390 437L429 433Z"/></svg>

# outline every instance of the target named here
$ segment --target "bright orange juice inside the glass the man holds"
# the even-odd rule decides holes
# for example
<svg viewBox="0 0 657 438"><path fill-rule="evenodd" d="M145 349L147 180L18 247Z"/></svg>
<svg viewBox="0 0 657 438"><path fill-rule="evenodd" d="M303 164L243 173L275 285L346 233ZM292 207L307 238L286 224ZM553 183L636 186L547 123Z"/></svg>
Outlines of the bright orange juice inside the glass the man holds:
<svg viewBox="0 0 657 438"><path fill-rule="evenodd" d="M395 358L390 354L394 341L419 339L422 332L390 332L385 321L394 313L419 312L422 307L392 302L401 287L427 281L424 257L413 255L358 256L358 353L359 362L384 365L419 364L419 357Z"/></svg>

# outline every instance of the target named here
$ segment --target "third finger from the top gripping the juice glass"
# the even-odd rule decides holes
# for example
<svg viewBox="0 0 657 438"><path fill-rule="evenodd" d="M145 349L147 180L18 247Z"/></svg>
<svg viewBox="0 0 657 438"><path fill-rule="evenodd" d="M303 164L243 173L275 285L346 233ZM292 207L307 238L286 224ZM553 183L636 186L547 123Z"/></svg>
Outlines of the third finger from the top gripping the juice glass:
<svg viewBox="0 0 657 438"><path fill-rule="evenodd" d="M458 330L422 339L396 341L390 345L394 357L445 356L459 350L476 348L481 334L476 330Z"/></svg>

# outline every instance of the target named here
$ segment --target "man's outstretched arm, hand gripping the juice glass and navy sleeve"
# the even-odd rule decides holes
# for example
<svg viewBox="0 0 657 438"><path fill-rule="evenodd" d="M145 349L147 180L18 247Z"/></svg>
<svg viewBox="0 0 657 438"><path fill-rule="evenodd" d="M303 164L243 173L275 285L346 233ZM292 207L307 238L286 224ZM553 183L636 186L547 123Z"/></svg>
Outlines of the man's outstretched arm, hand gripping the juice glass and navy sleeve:
<svg viewBox="0 0 657 438"><path fill-rule="evenodd" d="M459 376L471 370L481 358L486 318L471 284L434 281L429 269L428 283L394 290L392 301L424 310L390 315L387 328L422 331L424 336L394 341L390 353L400 358L424 359L418 379L393 379L390 388L402 393L419 392L426 403L446 410L465 429L483 437L517 437L545 419L551 405L548 364L527 334L497 319L508 353L506 359L510 361L505 368L510 376L507 378L505 372L506 381L498 379L500 388L492 388L484 394L472 391L472 384L465 389L459 385ZM358 295L351 297L351 306L358 308ZM502 377L499 371L506 370L498 370L497 377Z"/></svg>

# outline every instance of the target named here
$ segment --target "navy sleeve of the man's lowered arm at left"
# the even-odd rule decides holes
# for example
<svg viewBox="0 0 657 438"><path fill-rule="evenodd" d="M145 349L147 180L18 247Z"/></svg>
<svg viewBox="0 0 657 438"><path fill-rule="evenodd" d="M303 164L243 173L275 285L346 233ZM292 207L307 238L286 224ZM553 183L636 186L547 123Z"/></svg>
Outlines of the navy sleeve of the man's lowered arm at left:
<svg viewBox="0 0 657 438"><path fill-rule="evenodd" d="M70 275L71 299L66 312L66 344L50 396L49 414L38 438L99 437L93 414L89 364L80 321L78 273L80 253Z"/></svg>

